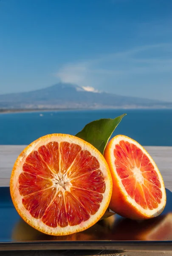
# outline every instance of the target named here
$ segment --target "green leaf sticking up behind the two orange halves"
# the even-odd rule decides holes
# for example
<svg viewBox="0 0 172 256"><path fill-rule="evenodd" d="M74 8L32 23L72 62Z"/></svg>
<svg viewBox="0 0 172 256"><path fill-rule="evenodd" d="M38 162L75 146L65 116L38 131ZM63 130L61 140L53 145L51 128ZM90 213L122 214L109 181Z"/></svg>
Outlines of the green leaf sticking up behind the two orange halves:
<svg viewBox="0 0 172 256"><path fill-rule="evenodd" d="M75 136L89 142L103 154L113 131L125 115L123 114L115 119L99 119L90 122Z"/></svg>

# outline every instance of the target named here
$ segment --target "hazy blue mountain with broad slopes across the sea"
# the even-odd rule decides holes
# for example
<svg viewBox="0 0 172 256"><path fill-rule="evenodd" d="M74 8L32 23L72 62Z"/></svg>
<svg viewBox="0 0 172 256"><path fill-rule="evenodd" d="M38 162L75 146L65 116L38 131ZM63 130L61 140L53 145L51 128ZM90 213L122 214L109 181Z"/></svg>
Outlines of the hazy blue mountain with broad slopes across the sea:
<svg viewBox="0 0 172 256"><path fill-rule="evenodd" d="M96 93L59 83L40 90L0 95L0 108L172 108L172 103Z"/></svg>

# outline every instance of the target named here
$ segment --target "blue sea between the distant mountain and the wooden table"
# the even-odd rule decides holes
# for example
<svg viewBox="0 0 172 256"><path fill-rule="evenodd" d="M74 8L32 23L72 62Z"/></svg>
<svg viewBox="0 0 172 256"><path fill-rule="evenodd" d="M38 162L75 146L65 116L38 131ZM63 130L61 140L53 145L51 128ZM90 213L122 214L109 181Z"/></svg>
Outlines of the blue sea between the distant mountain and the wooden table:
<svg viewBox="0 0 172 256"><path fill-rule="evenodd" d="M172 146L172 110L50 111L0 114L0 145L28 145L51 133L75 135L88 123L123 113L114 135L124 134L142 145Z"/></svg>

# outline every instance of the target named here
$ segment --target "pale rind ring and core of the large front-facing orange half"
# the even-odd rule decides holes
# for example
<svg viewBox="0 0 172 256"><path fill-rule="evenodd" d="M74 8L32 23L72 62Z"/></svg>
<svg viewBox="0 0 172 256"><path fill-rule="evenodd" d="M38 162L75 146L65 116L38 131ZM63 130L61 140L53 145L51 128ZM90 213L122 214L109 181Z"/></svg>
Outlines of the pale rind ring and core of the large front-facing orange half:
<svg viewBox="0 0 172 256"><path fill-rule="evenodd" d="M38 150L38 148L42 145L48 144L49 142L68 142L68 143L76 143L78 145L81 146L81 148L83 150L87 150L90 151L91 155L96 157L99 160L99 164L100 167L99 169L102 171L102 174L104 176L104 182L106 185L106 189L104 191L103 195L103 200L102 203L100 204L100 207L98 209L98 211L90 216L90 218L85 221L82 222L81 224L78 224L76 226L70 226L68 225L67 227L49 227L46 224L44 224L42 222L41 219L36 219L34 217L31 216L30 212L28 212L28 210L25 209L25 207L22 204L22 198L23 196L20 195L19 192L19 176L20 174L23 172L23 164L25 163L26 158L28 157L28 155L33 151L33 150ZM24 151L24 154L20 157L17 158L17 168L15 169L14 175L11 178L11 195L12 195L12 200L15 202L15 206L19 209L21 216L24 219L27 219L28 224L31 224L35 227L39 227L39 230L43 230L44 233L49 233L49 234L60 234L60 233L75 233L78 232L80 230L84 230L84 227L89 227L92 225L92 223L95 221L97 221L99 218L102 217L102 215L105 212L105 205L108 207L109 201L110 201L110 197L109 195L111 194L111 184L112 181L109 178L109 169L108 166L106 165L106 162L104 162L102 160L102 158L100 157L100 152L98 150L96 150L96 148L94 148L93 146L91 146L91 150L90 147L85 144L85 142L83 140L80 140L76 137L68 137L68 135L63 135L61 136L61 134L59 134L59 136L51 136L51 137L47 137L46 141L45 140L38 140L36 143L33 143L31 148L28 148L26 151ZM54 174L54 172L53 172ZM107 178L108 177L108 178ZM52 187L54 187L54 189L56 189L56 195L57 192L61 191L62 194L65 193L65 191L70 191L70 187L72 186L72 184L70 183L70 179L68 178L68 175L65 173L64 175L61 174L61 172L59 172L59 174L55 174L54 178L51 179L52 181ZM56 196L55 195L55 196ZM61 196L60 193L58 193L58 196ZM107 208L106 207L106 208Z"/></svg>

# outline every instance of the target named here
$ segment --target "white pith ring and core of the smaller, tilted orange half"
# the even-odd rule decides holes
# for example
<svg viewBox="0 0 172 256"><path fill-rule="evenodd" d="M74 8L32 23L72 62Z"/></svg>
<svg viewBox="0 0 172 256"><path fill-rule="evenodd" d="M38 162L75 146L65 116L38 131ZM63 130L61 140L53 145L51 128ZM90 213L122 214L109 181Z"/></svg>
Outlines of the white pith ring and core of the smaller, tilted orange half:
<svg viewBox="0 0 172 256"><path fill-rule="evenodd" d="M141 151L144 152L144 154L147 155L147 157L149 158L150 162L152 163L152 165L154 166L154 169L158 175L158 178L159 178L159 181L161 183L161 191L162 191L162 198L161 198L161 203L158 204L158 208L156 209L144 209L143 207L141 207L141 205L137 204L136 201L131 198L126 189L124 188L123 184L122 184L122 181L121 181L121 178L118 176L118 173L116 171L116 166L115 166L115 156L114 156L114 149L115 149L115 146L116 144L119 144L119 142L121 140L124 140L124 141L127 141L129 143L133 143L134 145L136 145L138 148L141 149ZM162 180L162 177L160 175L160 172L158 170L158 167L156 166L155 162L152 160L152 158L149 156L149 154L147 153L147 151L139 144L137 143L135 140L132 140L130 139L129 137L127 136L124 136L124 135L117 135L116 137L114 137L112 140L111 140L111 146L110 146L110 161L111 161L111 164L113 166L113 172L115 174L116 177L118 177L118 183L119 183L119 186L122 190L122 193L126 196L127 198L127 201L132 204L133 206L136 206L136 208L144 213L145 215L147 216L152 216L152 215L159 215L159 212L162 212L162 208L164 208L164 205L165 205L165 202L166 202L166 192L165 192L165 187L164 187L164 181ZM138 182L141 182L143 183L143 180L144 180L144 177L143 175L141 174L141 171L139 168L137 168L136 166L133 166L133 176L136 178L136 180Z"/></svg>

